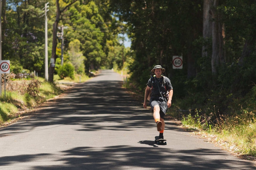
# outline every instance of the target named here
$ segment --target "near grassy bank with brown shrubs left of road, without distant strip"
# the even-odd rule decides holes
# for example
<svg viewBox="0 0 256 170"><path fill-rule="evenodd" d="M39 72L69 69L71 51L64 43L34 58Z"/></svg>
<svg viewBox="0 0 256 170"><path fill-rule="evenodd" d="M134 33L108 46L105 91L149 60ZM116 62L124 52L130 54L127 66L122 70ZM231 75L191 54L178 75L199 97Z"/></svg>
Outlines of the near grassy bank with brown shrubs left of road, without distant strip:
<svg viewBox="0 0 256 170"><path fill-rule="evenodd" d="M49 98L53 98L56 95L59 95L63 91L57 86L44 81L42 78L36 78L40 83L40 87L37 85L28 88L28 86L20 87L19 83L12 82L12 86L19 86L16 91L6 91L4 95L4 90L2 90L2 95L0 97L0 125L10 122L12 119L15 119L21 114L20 111L28 110L33 107L40 105ZM19 82L20 80L17 80ZM23 80L31 82L31 80ZM24 85L24 84L22 84ZM31 90L38 90L38 93L31 93ZM24 89L24 90L19 90Z"/></svg>

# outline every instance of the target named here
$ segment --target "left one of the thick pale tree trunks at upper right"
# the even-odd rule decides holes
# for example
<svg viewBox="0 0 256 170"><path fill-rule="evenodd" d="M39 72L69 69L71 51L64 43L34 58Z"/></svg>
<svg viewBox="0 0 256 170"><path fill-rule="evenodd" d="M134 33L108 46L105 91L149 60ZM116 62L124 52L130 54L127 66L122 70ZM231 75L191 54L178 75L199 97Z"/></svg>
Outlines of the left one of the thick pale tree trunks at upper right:
<svg viewBox="0 0 256 170"><path fill-rule="evenodd" d="M210 9L212 7L213 0L203 1L203 38L212 38L212 21ZM202 56L207 56L206 47L202 48Z"/></svg>

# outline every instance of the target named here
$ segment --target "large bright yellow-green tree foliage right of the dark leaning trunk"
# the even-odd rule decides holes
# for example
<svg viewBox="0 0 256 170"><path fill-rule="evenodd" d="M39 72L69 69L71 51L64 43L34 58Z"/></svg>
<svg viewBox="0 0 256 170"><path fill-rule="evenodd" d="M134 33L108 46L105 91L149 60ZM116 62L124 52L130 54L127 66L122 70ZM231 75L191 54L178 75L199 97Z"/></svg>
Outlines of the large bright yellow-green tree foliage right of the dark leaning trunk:
<svg viewBox="0 0 256 170"><path fill-rule="evenodd" d="M99 7L105 7L105 9L99 10ZM101 66L111 67L112 62L108 58L108 52L110 48L117 44L115 38L118 32L110 32L112 29L111 22L112 20L115 22L115 20L108 8L108 3L105 1L90 1L87 4L76 2L69 10L64 12L63 24L69 27L65 36L67 37L66 40L67 42L80 41L79 52L77 51L76 54L73 54L77 56L75 58L81 59L81 57L85 57L83 62L79 62L80 64L84 63L84 69L81 65L78 67L75 64L78 62L75 62L74 58L72 59L72 64L79 74L84 71L89 74L89 70L97 70ZM113 26L116 27L116 25ZM112 42L111 46L109 42ZM70 49L70 47L66 48ZM71 60L70 52L71 49L68 51L69 59Z"/></svg>

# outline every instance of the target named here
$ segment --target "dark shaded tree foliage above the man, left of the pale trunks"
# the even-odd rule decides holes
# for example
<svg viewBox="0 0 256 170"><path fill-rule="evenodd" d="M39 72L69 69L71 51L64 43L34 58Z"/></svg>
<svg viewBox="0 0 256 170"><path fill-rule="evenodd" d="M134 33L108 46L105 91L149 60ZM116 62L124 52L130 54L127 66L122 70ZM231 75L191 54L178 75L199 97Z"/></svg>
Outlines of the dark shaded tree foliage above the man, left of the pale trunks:
<svg viewBox="0 0 256 170"><path fill-rule="evenodd" d="M202 1L112 1L119 19L127 22L132 37L135 62L130 70L135 75L131 75L131 79L140 89L145 88L145 76L149 77L154 65L162 65L168 77L174 73L171 67L173 55L183 54L184 61L187 54L198 56L192 43L200 35L200 30L196 27L200 27L202 23L196 18L202 14L201 3ZM188 30L188 27L191 29ZM197 46L196 49L198 47L200 48ZM187 69L186 65L184 63L184 69ZM186 71L184 73L187 74Z"/></svg>

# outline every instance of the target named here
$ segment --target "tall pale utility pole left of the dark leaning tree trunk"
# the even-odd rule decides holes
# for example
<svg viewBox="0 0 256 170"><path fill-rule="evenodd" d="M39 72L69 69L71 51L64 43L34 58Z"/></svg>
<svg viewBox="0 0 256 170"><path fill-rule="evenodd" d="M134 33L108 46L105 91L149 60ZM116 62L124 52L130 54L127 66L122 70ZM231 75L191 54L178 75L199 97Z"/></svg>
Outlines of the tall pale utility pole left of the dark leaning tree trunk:
<svg viewBox="0 0 256 170"><path fill-rule="evenodd" d="M47 9L49 2L45 4L45 80L48 81L48 28L47 28Z"/></svg>

